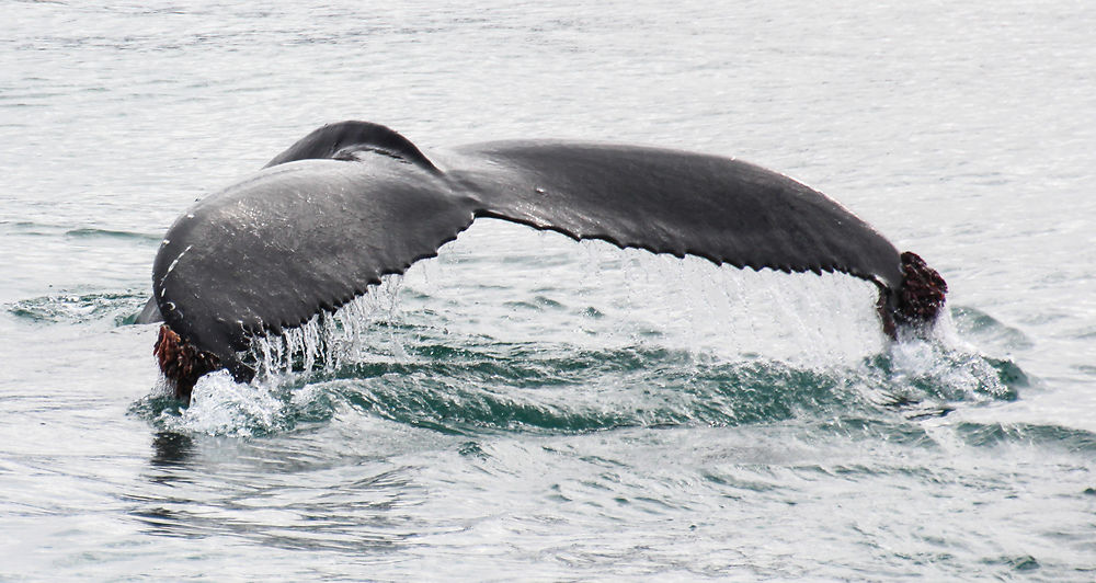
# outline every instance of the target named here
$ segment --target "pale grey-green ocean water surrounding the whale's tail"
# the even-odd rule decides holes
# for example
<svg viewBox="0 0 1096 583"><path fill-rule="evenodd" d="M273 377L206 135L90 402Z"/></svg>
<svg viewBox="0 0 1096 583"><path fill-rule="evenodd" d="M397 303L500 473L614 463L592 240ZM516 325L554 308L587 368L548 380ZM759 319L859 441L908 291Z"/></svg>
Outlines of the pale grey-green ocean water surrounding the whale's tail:
<svg viewBox="0 0 1096 583"><path fill-rule="evenodd" d="M2 3L0 580L1096 579L1096 10L477 4ZM949 315L483 220L180 408L162 233L346 118L746 159Z"/></svg>

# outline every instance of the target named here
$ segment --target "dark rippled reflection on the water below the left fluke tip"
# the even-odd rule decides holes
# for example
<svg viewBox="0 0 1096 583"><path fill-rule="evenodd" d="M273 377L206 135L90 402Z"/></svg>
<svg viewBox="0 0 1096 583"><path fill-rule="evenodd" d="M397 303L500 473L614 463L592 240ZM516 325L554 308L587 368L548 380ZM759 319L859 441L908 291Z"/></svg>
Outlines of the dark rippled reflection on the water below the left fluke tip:
<svg viewBox="0 0 1096 583"><path fill-rule="evenodd" d="M231 537L293 550L385 552L427 525L407 513L423 495L413 468L299 464L262 473L263 446L159 432L146 484L122 499L150 535ZM283 454L284 455L284 454Z"/></svg>

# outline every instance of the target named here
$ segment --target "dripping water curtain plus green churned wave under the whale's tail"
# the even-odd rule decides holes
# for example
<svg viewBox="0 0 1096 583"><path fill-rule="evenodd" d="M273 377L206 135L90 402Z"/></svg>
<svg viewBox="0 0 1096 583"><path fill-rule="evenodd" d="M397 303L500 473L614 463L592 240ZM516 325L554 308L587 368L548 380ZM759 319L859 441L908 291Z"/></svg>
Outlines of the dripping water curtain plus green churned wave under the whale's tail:
<svg viewBox="0 0 1096 583"><path fill-rule="evenodd" d="M334 313L256 339L244 355L258 371L250 387L219 396L226 377L199 381L196 412L157 423L259 435L346 410L457 434L906 423L1015 399L1027 382L967 345L947 313L925 339L888 342L876 290L858 279L598 242L551 249L559 236L538 235L541 249L489 250L496 265L448 250Z"/></svg>

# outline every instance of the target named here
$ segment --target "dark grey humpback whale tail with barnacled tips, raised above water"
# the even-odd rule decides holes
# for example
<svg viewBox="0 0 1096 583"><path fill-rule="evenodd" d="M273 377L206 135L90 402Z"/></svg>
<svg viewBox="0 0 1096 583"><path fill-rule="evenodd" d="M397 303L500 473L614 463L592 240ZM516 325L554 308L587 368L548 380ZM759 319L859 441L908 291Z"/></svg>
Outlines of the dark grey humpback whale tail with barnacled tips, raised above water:
<svg viewBox="0 0 1096 583"><path fill-rule="evenodd" d="M891 338L925 330L947 285L824 194L720 156L602 142L490 141L421 151L367 122L329 124L168 229L139 321L175 397L281 334L437 254L477 217L739 268L875 284Z"/></svg>

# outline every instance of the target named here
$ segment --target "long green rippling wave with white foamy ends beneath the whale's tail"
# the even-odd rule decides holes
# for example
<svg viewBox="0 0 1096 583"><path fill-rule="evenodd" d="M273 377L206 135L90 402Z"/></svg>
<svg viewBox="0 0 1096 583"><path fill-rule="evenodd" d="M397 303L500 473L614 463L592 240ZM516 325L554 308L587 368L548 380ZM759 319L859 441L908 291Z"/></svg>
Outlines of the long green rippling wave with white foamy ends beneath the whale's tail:
<svg viewBox="0 0 1096 583"><path fill-rule="evenodd" d="M132 412L165 431L261 436L327 423L344 412L445 434L570 434L620 427L739 426L788 420L906 423L959 407L1017 398L1030 380L1014 363L907 342L854 366L711 358L630 345L459 345L416 341L316 373L251 385L208 375L189 408L161 395Z"/></svg>

